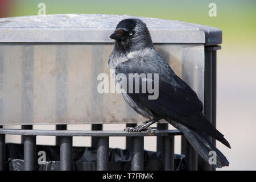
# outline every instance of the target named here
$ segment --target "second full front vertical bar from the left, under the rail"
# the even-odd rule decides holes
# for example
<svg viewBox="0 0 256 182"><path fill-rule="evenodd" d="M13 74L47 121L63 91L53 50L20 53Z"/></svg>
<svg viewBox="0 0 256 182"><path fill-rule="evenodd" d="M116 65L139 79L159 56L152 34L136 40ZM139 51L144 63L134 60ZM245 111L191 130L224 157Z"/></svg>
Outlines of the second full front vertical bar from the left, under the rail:
<svg viewBox="0 0 256 182"><path fill-rule="evenodd" d="M60 137L60 171L71 171L72 162L72 137Z"/></svg>

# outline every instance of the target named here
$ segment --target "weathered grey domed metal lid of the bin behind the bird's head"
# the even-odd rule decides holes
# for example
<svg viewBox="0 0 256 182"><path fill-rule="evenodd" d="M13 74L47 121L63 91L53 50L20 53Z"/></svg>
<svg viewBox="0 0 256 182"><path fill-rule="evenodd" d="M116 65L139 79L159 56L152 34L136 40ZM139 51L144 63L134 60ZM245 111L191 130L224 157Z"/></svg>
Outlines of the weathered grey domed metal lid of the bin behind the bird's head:
<svg viewBox="0 0 256 182"><path fill-rule="evenodd" d="M112 43L109 35L121 19L140 18L155 43L221 43L218 28L175 20L127 15L59 14L0 19L0 42ZM205 42L206 40L206 42Z"/></svg>

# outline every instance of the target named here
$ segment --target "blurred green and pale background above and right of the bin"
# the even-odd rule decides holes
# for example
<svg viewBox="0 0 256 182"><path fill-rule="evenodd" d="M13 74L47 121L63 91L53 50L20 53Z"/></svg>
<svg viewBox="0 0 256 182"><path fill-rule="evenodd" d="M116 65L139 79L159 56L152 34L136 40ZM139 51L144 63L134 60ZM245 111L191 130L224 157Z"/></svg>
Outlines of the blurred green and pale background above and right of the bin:
<svg viewBox="0 0 256 182"><path fill-rule="evenodd" d="M224 170L256 169L256 1L82 1L0 0L0 17L37 15L46 3L46 14L127 14L180 20L222 30L217 51L217 128L232 149L217 147L227 156ZM208 15L216 3L217 16Z"/></svg>

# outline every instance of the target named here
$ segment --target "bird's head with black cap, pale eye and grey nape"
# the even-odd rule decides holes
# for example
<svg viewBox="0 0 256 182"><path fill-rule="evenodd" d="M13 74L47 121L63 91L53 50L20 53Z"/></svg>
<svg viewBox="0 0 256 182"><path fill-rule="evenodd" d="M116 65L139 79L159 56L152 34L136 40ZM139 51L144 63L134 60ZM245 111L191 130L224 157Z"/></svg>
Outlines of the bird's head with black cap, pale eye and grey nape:
<svg viewBox="0 0 256 182"><path fill-rule="evenodd" d="M125 52L153 47L150 32L140 19L121 20L110 38Z"/></svg>

